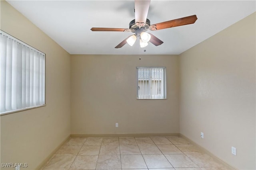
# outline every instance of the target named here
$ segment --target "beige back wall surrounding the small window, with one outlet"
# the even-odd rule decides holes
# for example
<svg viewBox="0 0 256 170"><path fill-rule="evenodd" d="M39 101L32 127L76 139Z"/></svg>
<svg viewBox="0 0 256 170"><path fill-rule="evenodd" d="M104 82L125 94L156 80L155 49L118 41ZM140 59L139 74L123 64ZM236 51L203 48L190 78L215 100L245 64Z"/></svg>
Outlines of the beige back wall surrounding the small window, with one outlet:
<svg viewBox="0 0 256 170"><path fill-rule="evenodd" d="M167 100L136 100L136 66L166 66ZM71 134L179 133L178 56L71 55L71 70Z"/></svg>

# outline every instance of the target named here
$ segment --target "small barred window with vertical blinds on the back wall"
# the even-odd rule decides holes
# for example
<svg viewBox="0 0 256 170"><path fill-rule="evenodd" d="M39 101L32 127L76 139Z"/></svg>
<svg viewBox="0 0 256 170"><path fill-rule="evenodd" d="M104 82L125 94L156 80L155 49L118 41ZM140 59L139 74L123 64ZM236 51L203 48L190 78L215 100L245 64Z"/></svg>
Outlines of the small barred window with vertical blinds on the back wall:
<svg viewBox="0 0 256 170"><path fill-rule="evenodd" d="M166 99L165 67L137 67L137 99Z"/></svg>

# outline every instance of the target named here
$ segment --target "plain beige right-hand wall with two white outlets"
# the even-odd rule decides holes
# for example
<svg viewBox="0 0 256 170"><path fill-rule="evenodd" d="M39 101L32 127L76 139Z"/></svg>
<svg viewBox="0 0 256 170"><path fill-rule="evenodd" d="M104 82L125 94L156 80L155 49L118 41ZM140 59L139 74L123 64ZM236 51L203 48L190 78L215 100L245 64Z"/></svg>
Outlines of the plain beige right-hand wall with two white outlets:
<svg viewBox="0 0 256 170"><path fill-rule="evenodd" d="M180 133L244 170L256 169L255 21L254 13L180 55Z"/></svg>

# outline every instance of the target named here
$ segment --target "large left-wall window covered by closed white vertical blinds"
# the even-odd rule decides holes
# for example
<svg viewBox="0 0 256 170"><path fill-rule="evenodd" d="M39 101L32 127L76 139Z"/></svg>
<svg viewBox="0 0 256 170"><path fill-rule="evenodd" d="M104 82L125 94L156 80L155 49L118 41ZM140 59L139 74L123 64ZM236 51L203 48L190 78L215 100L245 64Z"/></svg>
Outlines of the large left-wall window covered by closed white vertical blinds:
<svg viewBox="0 0 256 170"><path fill-rule="evenodd" d="M0 114L45 105L45 54L0 33Z"/></svg>

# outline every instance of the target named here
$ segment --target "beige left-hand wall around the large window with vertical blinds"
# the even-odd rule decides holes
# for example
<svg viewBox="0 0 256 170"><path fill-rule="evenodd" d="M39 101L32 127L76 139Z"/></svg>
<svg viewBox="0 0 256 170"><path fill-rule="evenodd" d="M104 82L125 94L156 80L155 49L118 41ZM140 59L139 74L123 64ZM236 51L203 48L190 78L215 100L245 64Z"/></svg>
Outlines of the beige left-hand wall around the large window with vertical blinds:
<svg viewBox="0 0 256 170"><path fill-rule="evenodd" d="M47 106L1 116L1 163L32 170L70 135L70 55L2 0L0 26L46 53Z"/></svg>

